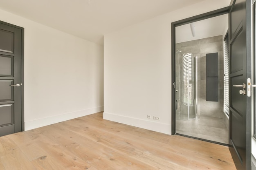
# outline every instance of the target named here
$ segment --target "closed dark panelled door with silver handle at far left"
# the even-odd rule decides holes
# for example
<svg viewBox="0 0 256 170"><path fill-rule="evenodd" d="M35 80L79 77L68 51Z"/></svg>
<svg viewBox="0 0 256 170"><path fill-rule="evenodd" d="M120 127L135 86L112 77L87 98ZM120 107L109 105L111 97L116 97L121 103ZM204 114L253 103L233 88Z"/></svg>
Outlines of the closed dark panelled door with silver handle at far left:
<svg viewBox="0 0 256 170"><path fill-rule="evenodd" d="M0 22L0 136L22 130L22 30Z"/></svg>

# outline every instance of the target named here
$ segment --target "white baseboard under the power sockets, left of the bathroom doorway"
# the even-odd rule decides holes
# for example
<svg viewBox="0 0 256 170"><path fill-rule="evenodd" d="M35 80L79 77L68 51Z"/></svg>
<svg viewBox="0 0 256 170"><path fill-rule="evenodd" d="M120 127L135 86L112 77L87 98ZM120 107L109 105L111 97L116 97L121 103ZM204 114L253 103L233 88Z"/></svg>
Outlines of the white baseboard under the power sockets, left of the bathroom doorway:
<svg viewBox="0 0 256 170"><path fill-rule="evenodd" d="M158 122L157 120L148 121L144 119L137 119L134 117L115 115L115 114L106 113L106 112L103 113L103 119L171 135L171 124L163 124Z"/></svg>

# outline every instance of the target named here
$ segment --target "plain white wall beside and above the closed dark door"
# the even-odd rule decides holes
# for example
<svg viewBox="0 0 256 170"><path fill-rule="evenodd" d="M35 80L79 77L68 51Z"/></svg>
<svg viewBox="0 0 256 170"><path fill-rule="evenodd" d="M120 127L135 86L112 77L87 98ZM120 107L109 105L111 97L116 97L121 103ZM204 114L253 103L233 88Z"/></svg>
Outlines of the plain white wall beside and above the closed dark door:
<svg viewBox="0 0 256 170"><path fill-rule="evenodd" d="M25 28L25 130L103 111L103 46L2 10L0 20Z"/></svg>

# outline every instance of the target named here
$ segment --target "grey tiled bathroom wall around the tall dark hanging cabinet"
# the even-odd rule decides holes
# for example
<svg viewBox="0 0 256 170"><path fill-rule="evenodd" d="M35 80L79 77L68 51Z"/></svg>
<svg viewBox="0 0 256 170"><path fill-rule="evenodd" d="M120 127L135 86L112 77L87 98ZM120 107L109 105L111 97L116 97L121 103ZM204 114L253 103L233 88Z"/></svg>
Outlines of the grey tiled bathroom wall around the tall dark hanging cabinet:
<svg viewBox="0 0 256 170"><path fill-rule="evenodd" d="M192 53L198 57L198 115L222 118L223 115L223 39L222 35L181 42L176 44L176 49L182 53ZM207 53L218 52L218 102L206 101L206 68Z"/></svg>

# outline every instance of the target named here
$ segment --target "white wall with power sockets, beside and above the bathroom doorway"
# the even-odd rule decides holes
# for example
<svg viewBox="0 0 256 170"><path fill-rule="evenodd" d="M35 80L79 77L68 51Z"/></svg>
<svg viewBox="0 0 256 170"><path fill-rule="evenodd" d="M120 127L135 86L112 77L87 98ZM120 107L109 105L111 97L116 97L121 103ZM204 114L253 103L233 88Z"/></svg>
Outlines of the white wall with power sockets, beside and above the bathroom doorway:
<svg viewBox="0 0 256 170"><path fill-rule="evenodd" d="M229 3L206 0L105 35L103 118L171 134L171 22Z"/></svg>

